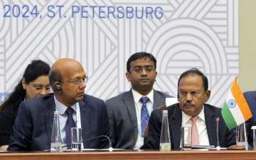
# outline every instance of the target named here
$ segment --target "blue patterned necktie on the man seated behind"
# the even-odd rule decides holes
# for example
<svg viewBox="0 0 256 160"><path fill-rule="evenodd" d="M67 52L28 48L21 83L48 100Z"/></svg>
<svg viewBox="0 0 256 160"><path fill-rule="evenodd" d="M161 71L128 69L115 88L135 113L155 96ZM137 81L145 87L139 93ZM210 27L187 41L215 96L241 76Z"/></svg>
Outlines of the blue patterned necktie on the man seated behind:
<svg viewBox="0 0 256 160"><path fill-rule="evenodd" d="M146 125L149 122L149 111L146 108L146 102L149 101L149 98L142 97L139 99L142 102L142 115L141 115L141 122L142 122L142 137L145 135Z"/></svg>

